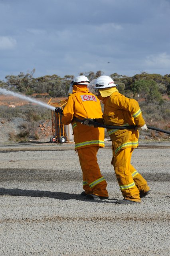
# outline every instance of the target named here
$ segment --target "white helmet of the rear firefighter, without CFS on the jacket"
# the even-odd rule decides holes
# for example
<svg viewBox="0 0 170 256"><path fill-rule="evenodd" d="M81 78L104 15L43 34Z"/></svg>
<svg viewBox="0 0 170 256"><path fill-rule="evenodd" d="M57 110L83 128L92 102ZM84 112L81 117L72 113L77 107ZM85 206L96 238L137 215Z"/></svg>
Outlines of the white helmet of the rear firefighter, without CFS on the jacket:
<svg viewBox="0 0 170 256"><path fill-rule="evenodd" d="M95 81L94 89L103 89L117 86L110 76L99 76Z"/></svg>

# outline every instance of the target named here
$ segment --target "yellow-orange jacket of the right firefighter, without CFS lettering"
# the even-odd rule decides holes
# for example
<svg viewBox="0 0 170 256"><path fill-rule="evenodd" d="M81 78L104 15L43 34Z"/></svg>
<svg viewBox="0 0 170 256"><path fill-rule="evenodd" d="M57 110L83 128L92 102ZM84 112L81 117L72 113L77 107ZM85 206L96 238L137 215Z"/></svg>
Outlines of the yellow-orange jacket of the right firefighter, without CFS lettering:
<svg viewBox="0 0 170 256"><path fill-rule="evenodd" d="M145 124L138 102L129 99L119 92L113 92L110 96L103 98L105 125L128 126ZM114 130L108 129L113 144L113 155L116 156L123 148L136 148L138 146L138 130Z"/></svg>

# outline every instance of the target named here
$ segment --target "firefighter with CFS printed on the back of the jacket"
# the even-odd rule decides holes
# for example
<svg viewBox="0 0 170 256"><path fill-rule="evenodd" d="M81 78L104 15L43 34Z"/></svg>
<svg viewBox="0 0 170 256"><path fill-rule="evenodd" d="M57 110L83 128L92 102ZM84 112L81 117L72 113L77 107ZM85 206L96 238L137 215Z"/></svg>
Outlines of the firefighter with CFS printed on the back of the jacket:
<svg viewBox="0 0 170 256"><path fill-rule="evenodd" d="M87 85L89 80L86 76L78 76L70 83L71 94L63 109L62 123L72 124L75 151L78 152L80 166L83 172L83 189L81 196L86 199L107 199L107 182L101 175L97 163L97 151L104 147L104 128L89 127L76 118L102 118L101 104L99 99L89 92Z"/></svg>

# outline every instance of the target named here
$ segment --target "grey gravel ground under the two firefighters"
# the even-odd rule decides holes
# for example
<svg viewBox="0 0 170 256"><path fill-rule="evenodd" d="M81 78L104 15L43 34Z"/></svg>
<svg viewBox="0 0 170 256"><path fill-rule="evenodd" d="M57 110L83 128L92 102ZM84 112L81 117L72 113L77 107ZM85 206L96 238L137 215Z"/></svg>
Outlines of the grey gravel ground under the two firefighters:
<svg viewBox="0 0 170 256"><path fill-rule="evenodd" d="M132 164L152 190L120 205L111 142L98 153L109 199L85 201L73 144L0 145L0 255L170 255L170 142L141 143Z"/></svg>

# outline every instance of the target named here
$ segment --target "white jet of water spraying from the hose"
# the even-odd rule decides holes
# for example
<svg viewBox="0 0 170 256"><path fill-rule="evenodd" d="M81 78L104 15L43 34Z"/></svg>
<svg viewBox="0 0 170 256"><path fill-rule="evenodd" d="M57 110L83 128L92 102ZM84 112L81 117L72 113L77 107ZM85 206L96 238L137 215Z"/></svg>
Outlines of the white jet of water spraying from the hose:
<svg viewBox="0 0 170 256"><path fill-rule="evenodd" d="M41 102L41 101L39 101L39 100L35 100L35 99L33 99L33 98L30 98L30 97L28 97L28 96L22 95L22 94L20 94L20 93L8 91L8 90L6 90L6 89L4 89L4 88L0 88L0 94L12 95L12 96L18 97L18 98L20 98L20 99L22 99L22 100L26 100L26 101L30 101L30 102L32 102L32 103L36 103L36 104L38 104L38 105L40 105L40 106L42 106L42 107L44 107L44 108L49 108L49 109L51 109L51 110L55 110L55 107L53 107L53 106L50 106L50 105L48 105L48 104L46 104L46 103L43 103L43 102Z"/></svg>

